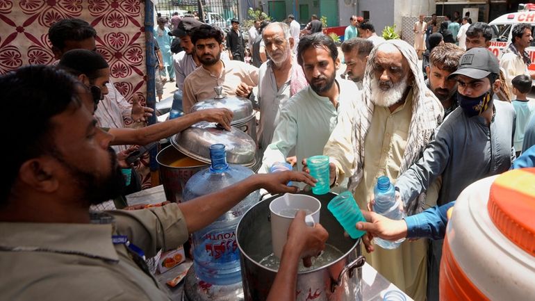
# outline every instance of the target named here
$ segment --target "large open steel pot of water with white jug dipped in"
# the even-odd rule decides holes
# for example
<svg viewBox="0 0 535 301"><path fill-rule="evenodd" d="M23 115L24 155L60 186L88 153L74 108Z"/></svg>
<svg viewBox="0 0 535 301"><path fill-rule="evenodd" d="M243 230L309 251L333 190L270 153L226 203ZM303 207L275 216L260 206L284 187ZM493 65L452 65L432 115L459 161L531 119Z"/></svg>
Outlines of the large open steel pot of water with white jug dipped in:
<svg viewBox="0 0 535 301"><path fill-rule="evenodd" d="M270 197L249 209L236 230L245 300L265 300L277 275L276 270L261 266L258 261L272 252L271 227L268 220L269 204L278 196ZM329 232L327 243L342 251L343 256L326 266L299 272L296 300L360 301L362 300L361 266L364 264L364 257L358 254L360 240L345 238L343 227L327 210L327 204L336 196L334 193L313 196L322 202L320 223Z"/></svg>

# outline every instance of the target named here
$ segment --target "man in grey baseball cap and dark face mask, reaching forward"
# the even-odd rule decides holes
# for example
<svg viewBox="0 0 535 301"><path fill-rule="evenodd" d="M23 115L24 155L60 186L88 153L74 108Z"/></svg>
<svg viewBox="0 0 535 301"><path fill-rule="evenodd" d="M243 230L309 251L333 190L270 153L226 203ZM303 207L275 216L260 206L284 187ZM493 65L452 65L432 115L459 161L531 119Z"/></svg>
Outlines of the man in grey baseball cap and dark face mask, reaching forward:
<svg viewBox="0 0 535 301"><path fill-rule="evenodd" d="M493 101L501 84L499 73L497 58L488 49L472 48L461 56L458 69L449 76L457 81L459 107L438 128L420 160L396 180L396 194L405 206L416 202L438 177L442 178L437 200L441 206L456 200L473 182L509 170L515 112L511 104ZM442 243L431 243L428 300L438 300Z"/></svg>

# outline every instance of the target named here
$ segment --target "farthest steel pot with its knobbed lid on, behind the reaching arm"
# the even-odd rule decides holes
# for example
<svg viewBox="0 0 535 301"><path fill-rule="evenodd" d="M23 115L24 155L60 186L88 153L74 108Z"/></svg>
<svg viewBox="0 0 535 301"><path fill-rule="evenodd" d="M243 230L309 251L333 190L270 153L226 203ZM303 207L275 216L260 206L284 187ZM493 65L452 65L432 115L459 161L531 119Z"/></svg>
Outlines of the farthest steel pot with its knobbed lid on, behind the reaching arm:
<svg viewBox="0 0 535 301"><path fill-rule="evenodd" d="M228 108L233 113L231 125L247 133L257 143L256 118L251 101L245 97L221 95L221 90L217 88L219 87L214 88L216 97L197 102L190 111L195 112L206 108Z"/></svg>

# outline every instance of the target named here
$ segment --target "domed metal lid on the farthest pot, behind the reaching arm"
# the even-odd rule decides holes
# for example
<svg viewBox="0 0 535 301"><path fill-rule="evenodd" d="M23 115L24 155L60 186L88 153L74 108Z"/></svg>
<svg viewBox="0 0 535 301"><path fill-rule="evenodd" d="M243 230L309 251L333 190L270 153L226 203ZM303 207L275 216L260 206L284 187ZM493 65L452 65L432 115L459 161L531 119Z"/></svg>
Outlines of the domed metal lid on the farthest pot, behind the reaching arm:
<svg viewBox="0 0 535 301"><path fill-rule="evenodd" d="M245 97L227 96L222 99L205 99L191 107L191 112L206 108L228 108L233 113L231 125L244 124L254 117L253 104Z"/></svg>

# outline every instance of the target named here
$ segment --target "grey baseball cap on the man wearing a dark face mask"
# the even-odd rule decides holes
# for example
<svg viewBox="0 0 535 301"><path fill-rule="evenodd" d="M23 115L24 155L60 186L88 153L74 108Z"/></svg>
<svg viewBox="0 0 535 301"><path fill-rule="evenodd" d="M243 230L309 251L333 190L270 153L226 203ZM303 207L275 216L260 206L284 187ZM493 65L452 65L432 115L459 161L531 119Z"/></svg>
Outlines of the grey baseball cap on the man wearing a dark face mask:
<svg viewBox="0 0 535 301"><path fill-rule="evenodd" d="M491 73L500 74L500 64L490 50L478 47L466 51L459 59L457 71L447 78L451 79L460 74L472 79L483 79Z"/></svg>

